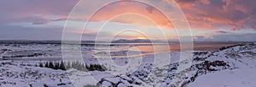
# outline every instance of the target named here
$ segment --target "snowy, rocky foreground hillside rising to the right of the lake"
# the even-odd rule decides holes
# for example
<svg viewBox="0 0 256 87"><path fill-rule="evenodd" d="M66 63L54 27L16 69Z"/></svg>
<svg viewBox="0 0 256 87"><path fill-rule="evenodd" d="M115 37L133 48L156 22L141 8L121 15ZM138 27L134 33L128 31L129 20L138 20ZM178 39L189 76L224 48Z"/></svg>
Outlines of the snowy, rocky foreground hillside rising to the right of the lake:
<svg viewBox="0 0 256 87"><path fill-rule="evenodd" d="M183 76L183 72L177 73L179 65L179 53L160 53L160 63L154 63L154 55L143 56L143 61L133 73L109 74L108 72L122 72L116 70L108 63L102 65L107 71L80 71L70 68L67 71L51 68L35 67L35 64L44 61L11 61L3 60L0 66L0 86L175 86L172 81L180 78L180 86L187 87L253 87L256 84L256 45L247 43L221 48L214 52L193 52L193 63L185 69L189 73ZM165 63L166 55L171 55L172 63ZM136 60L137 57L130 57ZM109 60L109 59L104 59ZM104 61L103 60L103 61ZM115 63L125 65L125 58L113 58ZM131 62L130 60L130 62ZM95 59L85 63L95 63ZM137 61L134 61L137 62ZM136 65L137 63L134 63ZM163 68L154 68L155 64L161 64ZM123 70L131 72L130 67ZM154 68L154 69L152 69ZM181 75L181 77L179 77ZM94 80L93 80L93 79ZM70 80L71 79L71 80ZM74 84L74 85L73 85ZM86 86L85 86L86 87Z"/></svg>

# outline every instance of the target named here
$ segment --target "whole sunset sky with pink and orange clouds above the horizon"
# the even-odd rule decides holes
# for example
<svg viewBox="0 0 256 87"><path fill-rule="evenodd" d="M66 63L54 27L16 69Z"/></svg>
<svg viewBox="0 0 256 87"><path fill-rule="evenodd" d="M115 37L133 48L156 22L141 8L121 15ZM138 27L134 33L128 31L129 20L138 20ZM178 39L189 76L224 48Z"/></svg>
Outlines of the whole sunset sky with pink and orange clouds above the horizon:
<svg viewBox="0 0 256 87"><path fill-rule="evenodd" d="M178 41L183 35L177 35L177 30L190 32L183 27L185 23L189 23L195 41L256 40L255 0L143 0L154 5L127 0L84 1L1 0L0 40L61 40L64 28L68 28L67 33L82 35L84 41ZM102 8L90 13L98 6Z"/></svg>

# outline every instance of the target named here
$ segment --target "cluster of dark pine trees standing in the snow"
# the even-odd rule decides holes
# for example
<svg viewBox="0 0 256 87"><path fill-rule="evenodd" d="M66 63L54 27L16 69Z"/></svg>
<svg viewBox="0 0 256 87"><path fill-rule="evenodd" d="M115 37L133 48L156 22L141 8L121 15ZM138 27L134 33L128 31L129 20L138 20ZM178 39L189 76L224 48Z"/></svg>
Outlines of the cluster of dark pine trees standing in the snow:
<svg viewBox="0 0 256 87"><path fill-rule="evenodd" d="M53 69L61 69L61 70L67 70L69 68L75 68L81 71L105 71L107 68L103 65L99 64L84 64L80 62L46 62L46 63L39 63L39 65L36 65L37 67L41 68L53 68Z"/></svg>

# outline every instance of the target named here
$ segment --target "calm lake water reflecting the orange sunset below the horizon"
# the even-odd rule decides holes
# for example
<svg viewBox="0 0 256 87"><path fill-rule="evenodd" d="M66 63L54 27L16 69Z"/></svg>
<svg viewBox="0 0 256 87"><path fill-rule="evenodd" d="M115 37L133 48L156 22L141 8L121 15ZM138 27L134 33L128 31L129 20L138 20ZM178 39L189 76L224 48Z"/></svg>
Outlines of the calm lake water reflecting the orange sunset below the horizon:
<svg viewBox="0 0 256 87"><path fill-rule="evenodd" d="M242 42L194 42L193 51L217 51L219 48L224 46L233 46L242 44ZM191 50L190 46L183 46L183 51ZM170 42L164 43L115 43L114 46L96 46L93 50L94 54L102 52L109 52L111 57L127 57L129 56L141 56L160 52L180 52L180 43ZM125 53L124 53L125 52ZM131 53L127 53L131 52ZM97 57L106 57L106 55L96 55Z"/></svg>

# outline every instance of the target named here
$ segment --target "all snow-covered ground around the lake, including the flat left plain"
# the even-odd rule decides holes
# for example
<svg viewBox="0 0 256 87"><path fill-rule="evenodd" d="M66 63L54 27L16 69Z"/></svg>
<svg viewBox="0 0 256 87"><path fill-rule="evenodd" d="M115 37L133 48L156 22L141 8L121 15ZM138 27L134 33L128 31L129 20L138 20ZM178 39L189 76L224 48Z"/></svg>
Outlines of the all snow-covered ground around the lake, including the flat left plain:
<svg viewBox="0 0 256 87"><path fill-rule="evenodd" d="M51 58L60 61L57 59L61 57L60 46L51 44L2 45L0 48L0 57L3 59L0 65L1 87L170 87L174 86L173 80L183 74L183 72L177 73L177 67L180 63L179 52L148 54L129 58L103 58L101 64L108 68L106 71L80 71L75 68L63 71L35 66L38 63L52 61ZM24 49L27 51L24 52ZM93 50L92 46L83 46L82 50L83 56L87 58L84 63L97 63L96 59L93 58L95 55L89 52ZM139 52L135 53L139 54ZM184 70L184 72L188 71L188 75L179 77L183 79L180 86L256 86L254 83L256 81L254 75L256 73L255 44L248 43L219 51L193 52L193 54L191 66ZM126 51L111 52L111 55L123 56L127 53ZM32 59L34 60L28 61ZM117 65L109 63L112 61Z"/></svg>

